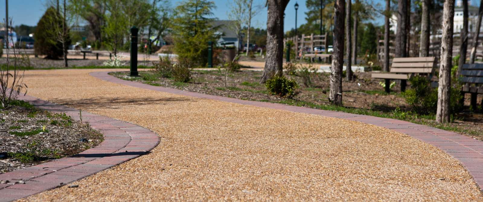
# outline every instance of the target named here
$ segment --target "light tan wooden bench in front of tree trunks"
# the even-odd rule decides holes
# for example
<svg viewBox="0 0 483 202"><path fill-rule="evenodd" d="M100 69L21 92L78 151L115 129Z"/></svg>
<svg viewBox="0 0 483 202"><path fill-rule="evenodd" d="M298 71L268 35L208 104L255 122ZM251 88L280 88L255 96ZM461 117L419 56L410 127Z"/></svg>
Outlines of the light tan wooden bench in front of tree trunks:
<svg viewBox="0 0 483 202"><path fill-rule="evenodd" d="M401 92L406 91L407 80L415 75L425 75L431 79L436 67L436 58L394 58L391 70L387 73L372 73L372 78L385 80L385 91L390 91L390 80L401 80Z"/></svg>

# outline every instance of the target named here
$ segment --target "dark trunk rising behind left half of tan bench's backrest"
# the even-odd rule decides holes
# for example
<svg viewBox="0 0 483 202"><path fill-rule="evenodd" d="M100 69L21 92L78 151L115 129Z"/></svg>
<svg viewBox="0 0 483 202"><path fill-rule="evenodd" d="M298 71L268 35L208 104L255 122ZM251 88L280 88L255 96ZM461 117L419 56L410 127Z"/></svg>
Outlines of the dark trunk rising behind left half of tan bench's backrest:
<svg viewBox="0 0 483 202"><path fill-rule="evenodd" d="M398 27L396 30L396 58L406 58L406 17L408 14L408 1L398 1Z"/></svg>

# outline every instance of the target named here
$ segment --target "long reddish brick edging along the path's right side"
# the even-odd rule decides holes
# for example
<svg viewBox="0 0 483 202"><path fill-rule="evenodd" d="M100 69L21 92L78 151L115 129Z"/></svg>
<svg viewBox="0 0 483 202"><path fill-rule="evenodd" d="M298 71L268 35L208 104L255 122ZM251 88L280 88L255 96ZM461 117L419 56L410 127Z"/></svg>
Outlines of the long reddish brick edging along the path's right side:
<svg viewBox="0 0 483 202"><path fill-rule="evenodd" d="M390 118L381 118L369 115L355 115L343 112L334 112L320 109L312 109L305 107L290 106L284 104L276 104L270 102L259 101L245 101L234 98L227 98L214 95L206 95L195 92L188 92L173 88L156 87L139 82L127 81L116 78L108 74L109 72L91 72L90 75L101 80L124 84L132 87L140 87L149 90L156 90L161 92L173 93L178 95L185 95L191 97L212 99L217 101L227 101L233 103L240 103L246 105L252 105L257 107L265 107L270 109L286 110L291 112L323 115L329 117L342 118L347 120L359 121L362 123L368 123L380 127L384 127L390 130L395 130L404 134L407 134L413 138L421 140L425 143L431 144L440 148L445 153L451 155L455 159L459 160L463 166L473 176L476 183L483 190L483 142L473 139L468 136L460 135L454 132L441 130L429 126L419 125L407 121L401 121Z"/></svg>

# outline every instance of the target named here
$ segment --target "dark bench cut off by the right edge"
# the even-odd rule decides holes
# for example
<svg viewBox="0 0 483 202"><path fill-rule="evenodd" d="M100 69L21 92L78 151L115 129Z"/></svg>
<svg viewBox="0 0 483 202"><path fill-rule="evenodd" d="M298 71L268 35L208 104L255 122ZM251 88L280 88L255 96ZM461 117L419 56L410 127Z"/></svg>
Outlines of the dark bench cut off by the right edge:
<svg viewBox="0 0 483 202"><path fill-rule="evenodd" d="M464 64L461 69L461 87L463 98L465 93L471 94L470 104L476 109L476 98L483 94L483 64Z"/></svg>

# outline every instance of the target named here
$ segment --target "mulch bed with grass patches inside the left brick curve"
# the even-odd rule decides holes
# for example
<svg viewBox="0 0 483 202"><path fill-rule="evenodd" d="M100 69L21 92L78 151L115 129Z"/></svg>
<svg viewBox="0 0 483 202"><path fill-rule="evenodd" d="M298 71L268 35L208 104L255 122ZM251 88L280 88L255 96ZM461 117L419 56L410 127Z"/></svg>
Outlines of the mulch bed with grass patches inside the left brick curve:
<svg viewBox="0 0 483 202"><path fill-rule="evenodd" d="M88 125L27 102L0 110L0 173L78 154L102 142Z"/></svg>

